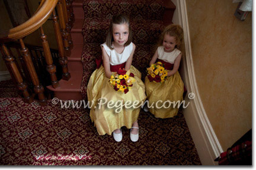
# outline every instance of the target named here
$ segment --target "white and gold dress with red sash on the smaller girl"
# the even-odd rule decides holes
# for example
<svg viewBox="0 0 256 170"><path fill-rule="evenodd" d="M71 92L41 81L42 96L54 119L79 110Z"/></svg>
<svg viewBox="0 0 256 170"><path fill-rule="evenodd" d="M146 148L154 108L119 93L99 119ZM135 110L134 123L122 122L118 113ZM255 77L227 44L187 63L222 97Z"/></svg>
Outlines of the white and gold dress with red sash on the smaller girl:
<svg viewBox="0 0 256 170"><path fill-rule="evenodd" d="M157 51L158 60L156 62L160 61L162 64L164 64L166 70L172 70L174 61L181 53L181 51L175 48L171 53L166 53L163 46L159 46ZM175 108L173 107L173 104L169 104L183 101L184 83L181 80L180 73L178 73L178 71L174 75L168 76L167 80L162 83L149 81L148 77L145 77L145 86L146 95L149 100L149 106L153 106L149 108L149 112L155 115L155 117L162 119L174 117L178 114L178 104ZM162 100L162 102L160 100ZM158 108L163 106L164 102L167 100L169 100L169 102L165 103L166 108L156 108L156 105Z"/></svg>

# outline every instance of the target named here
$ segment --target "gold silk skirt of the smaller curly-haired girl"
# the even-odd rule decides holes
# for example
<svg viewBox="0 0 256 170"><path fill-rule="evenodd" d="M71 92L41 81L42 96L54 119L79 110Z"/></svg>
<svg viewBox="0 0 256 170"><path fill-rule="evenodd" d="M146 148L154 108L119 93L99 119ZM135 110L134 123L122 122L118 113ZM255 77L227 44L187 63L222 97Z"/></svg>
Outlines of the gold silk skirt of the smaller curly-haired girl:
<svg viewBox="0 0 256 170"><path fill-rule="evenodd" d="M152 106L149 108L149 111L155 115L155 117L164 119L174 117L178 114L178 104L174 106L173 103L183 101L184 91L184 83L181 80L180 73L178 73L178 71L174 75L167 77L167 80L163 83L150 82L148 77L146 77L145 86L149 106ZM162 102L160 100L162 100ZM165 102L168 100L169 102ZM158 108L161 106L163 107L157 109L156 106L158 106Z"/></svg>

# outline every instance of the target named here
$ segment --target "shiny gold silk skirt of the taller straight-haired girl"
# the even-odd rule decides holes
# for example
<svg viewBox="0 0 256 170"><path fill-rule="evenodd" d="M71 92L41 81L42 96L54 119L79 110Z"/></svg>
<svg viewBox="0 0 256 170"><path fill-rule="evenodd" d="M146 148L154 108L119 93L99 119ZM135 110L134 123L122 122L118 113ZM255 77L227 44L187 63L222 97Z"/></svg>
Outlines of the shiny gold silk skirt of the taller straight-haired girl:
<svg viewBox="0 0 256 170"><path fill-rule="evenodd" d="M120 129L122 126L130 129L139 116L141 107L131 107L131 104L127 105L130 108L124 106L127 101L132 104L135 101L143 103L146 99L145 84L141 80L141 73L133 66L130 67L130 71L135 74L136 82L126 94L114 90L109 79L105 77L103 66L95 70L89 79L87 96L90 105L93 103L90 117L99 135L105 135L105 133L111 135L114 130ZM121 103L123 103L123 107L121 107Z"/></svg>

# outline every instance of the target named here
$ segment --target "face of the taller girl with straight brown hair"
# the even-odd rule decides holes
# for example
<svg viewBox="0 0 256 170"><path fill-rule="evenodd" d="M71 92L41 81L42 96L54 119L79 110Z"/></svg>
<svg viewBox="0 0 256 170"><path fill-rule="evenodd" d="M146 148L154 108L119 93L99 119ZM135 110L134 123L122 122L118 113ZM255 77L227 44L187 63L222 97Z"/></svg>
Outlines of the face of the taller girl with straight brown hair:
<svg viewBox="0 0 256 170"><path fill-rule="evenodd" d="M113 24L113 38L116 45L124 45L129 37L128 24Z"/></svg>

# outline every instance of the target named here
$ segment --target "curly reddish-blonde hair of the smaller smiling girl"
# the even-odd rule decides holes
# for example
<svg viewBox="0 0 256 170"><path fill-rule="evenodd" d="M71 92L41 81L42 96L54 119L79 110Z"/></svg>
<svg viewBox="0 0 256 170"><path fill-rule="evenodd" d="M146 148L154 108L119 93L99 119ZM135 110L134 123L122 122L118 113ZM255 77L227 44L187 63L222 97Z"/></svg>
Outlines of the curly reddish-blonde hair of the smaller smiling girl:
<svg viewBox="0 0 256 170"><path fill-rule="evenodd" d="M183 45L182 45L183 44L183 28L181 28L180 25L175 25L175 24L171 24L165 27L164 31L159 37L157 47L162 45L165 34L168 34L171 37L175 37L175 41L177 44L175 48L183 52L183 49L182 49L183 48Z"/></svg>

